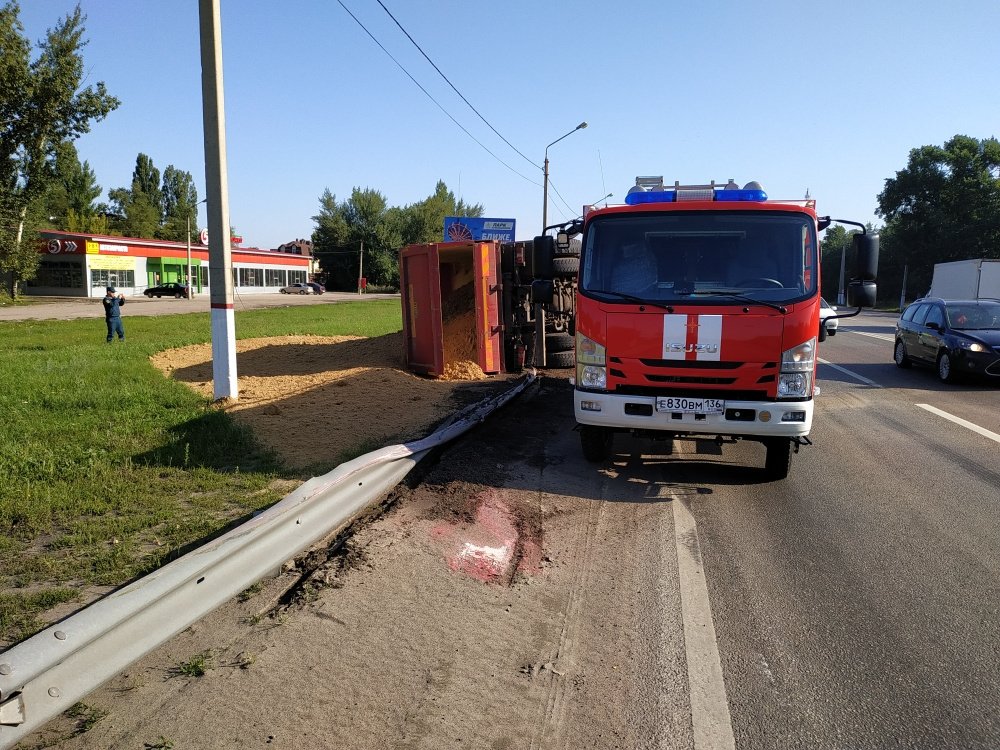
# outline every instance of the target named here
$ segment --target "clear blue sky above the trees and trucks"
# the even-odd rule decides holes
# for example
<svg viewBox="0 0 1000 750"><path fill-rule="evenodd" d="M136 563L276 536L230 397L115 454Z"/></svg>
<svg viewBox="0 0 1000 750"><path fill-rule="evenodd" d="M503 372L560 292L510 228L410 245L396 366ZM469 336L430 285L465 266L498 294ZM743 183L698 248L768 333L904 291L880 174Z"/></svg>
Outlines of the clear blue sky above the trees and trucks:
<svg viewBox="0 0 1000 750"><path fill-rule="evenodd" d="M997 136L1000 3L469 2L383 0L485 125L376 0L343 0L462 132L337 0L222 0L231 223L275 247L314 229L329 189L390 205L444 180L485 215L541 229L637 175L758 180L806 189L822 214L876 221L884 181L909 150L956 133ZM205 195L196 0L81 0L88 82L121 107L77 146L104 189L131 182L139 152L192 173ZM41 39L70 0L22 0ZM507 166L501 163L502 160ZM200 223L206 221L202 211Z"/></svg>

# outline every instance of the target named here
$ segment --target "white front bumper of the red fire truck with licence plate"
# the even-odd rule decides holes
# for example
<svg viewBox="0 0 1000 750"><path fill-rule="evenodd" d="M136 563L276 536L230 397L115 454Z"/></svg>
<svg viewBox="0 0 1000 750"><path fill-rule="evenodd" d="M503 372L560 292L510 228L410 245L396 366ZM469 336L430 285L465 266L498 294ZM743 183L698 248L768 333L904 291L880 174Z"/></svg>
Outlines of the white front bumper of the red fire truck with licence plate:
<svg viewBox="0 0 1000 750"><path fill-rule="evenodd" d="M809 434L812 427L811 399L730 401L692 397L675 398L664 403L651 396L620 396L579 390L574 391L573 395L573 410L579 424L617 430L659 430L713 436L803 437Z"/></svg>

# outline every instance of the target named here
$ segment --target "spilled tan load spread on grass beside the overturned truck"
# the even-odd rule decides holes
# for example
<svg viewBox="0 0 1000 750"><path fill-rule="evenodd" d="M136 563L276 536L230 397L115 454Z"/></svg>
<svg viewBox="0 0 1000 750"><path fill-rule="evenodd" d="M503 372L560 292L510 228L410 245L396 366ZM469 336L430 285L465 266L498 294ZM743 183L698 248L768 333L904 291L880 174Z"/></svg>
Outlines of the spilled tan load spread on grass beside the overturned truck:
<svg viewBox="0 0 1000 750"><path fill-rule="evenodd" d="M212 347L160 352L153 364L212 398ZM283 336L236 342L239 399L221 405L292 467L339 463L426 435L509 376L472 362L446 377L406 370L402 332L376 338Z"/></svg>

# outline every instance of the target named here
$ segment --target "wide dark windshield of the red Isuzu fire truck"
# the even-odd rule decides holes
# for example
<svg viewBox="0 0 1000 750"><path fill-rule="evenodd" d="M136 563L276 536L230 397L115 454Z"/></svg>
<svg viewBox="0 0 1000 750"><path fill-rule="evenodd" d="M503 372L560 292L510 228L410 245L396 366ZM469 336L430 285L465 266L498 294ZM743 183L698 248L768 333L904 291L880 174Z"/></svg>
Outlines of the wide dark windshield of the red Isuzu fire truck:
<svg viewBox="0 0 1000 750"><path fill-rule="evenodd" d="M580 261L580 290L609 302L742 304L744 295L781 303L816 294L815 227L796 212L608 214L590 222Z"/></svg>

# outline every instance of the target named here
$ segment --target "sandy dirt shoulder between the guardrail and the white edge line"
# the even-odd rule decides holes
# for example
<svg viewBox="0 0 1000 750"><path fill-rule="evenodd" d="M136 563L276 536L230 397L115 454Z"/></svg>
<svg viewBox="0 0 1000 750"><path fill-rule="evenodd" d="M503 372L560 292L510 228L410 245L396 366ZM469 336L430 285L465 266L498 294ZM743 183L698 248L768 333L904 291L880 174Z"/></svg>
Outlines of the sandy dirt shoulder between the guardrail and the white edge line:
<svg viewBox="0 0 1000 750"><path fill-rule="evenodd" d="M571 427L564 380L530 388L344 548L88 696L106 715L57 746L691 747L669 488L595 476Z"/></svg>

